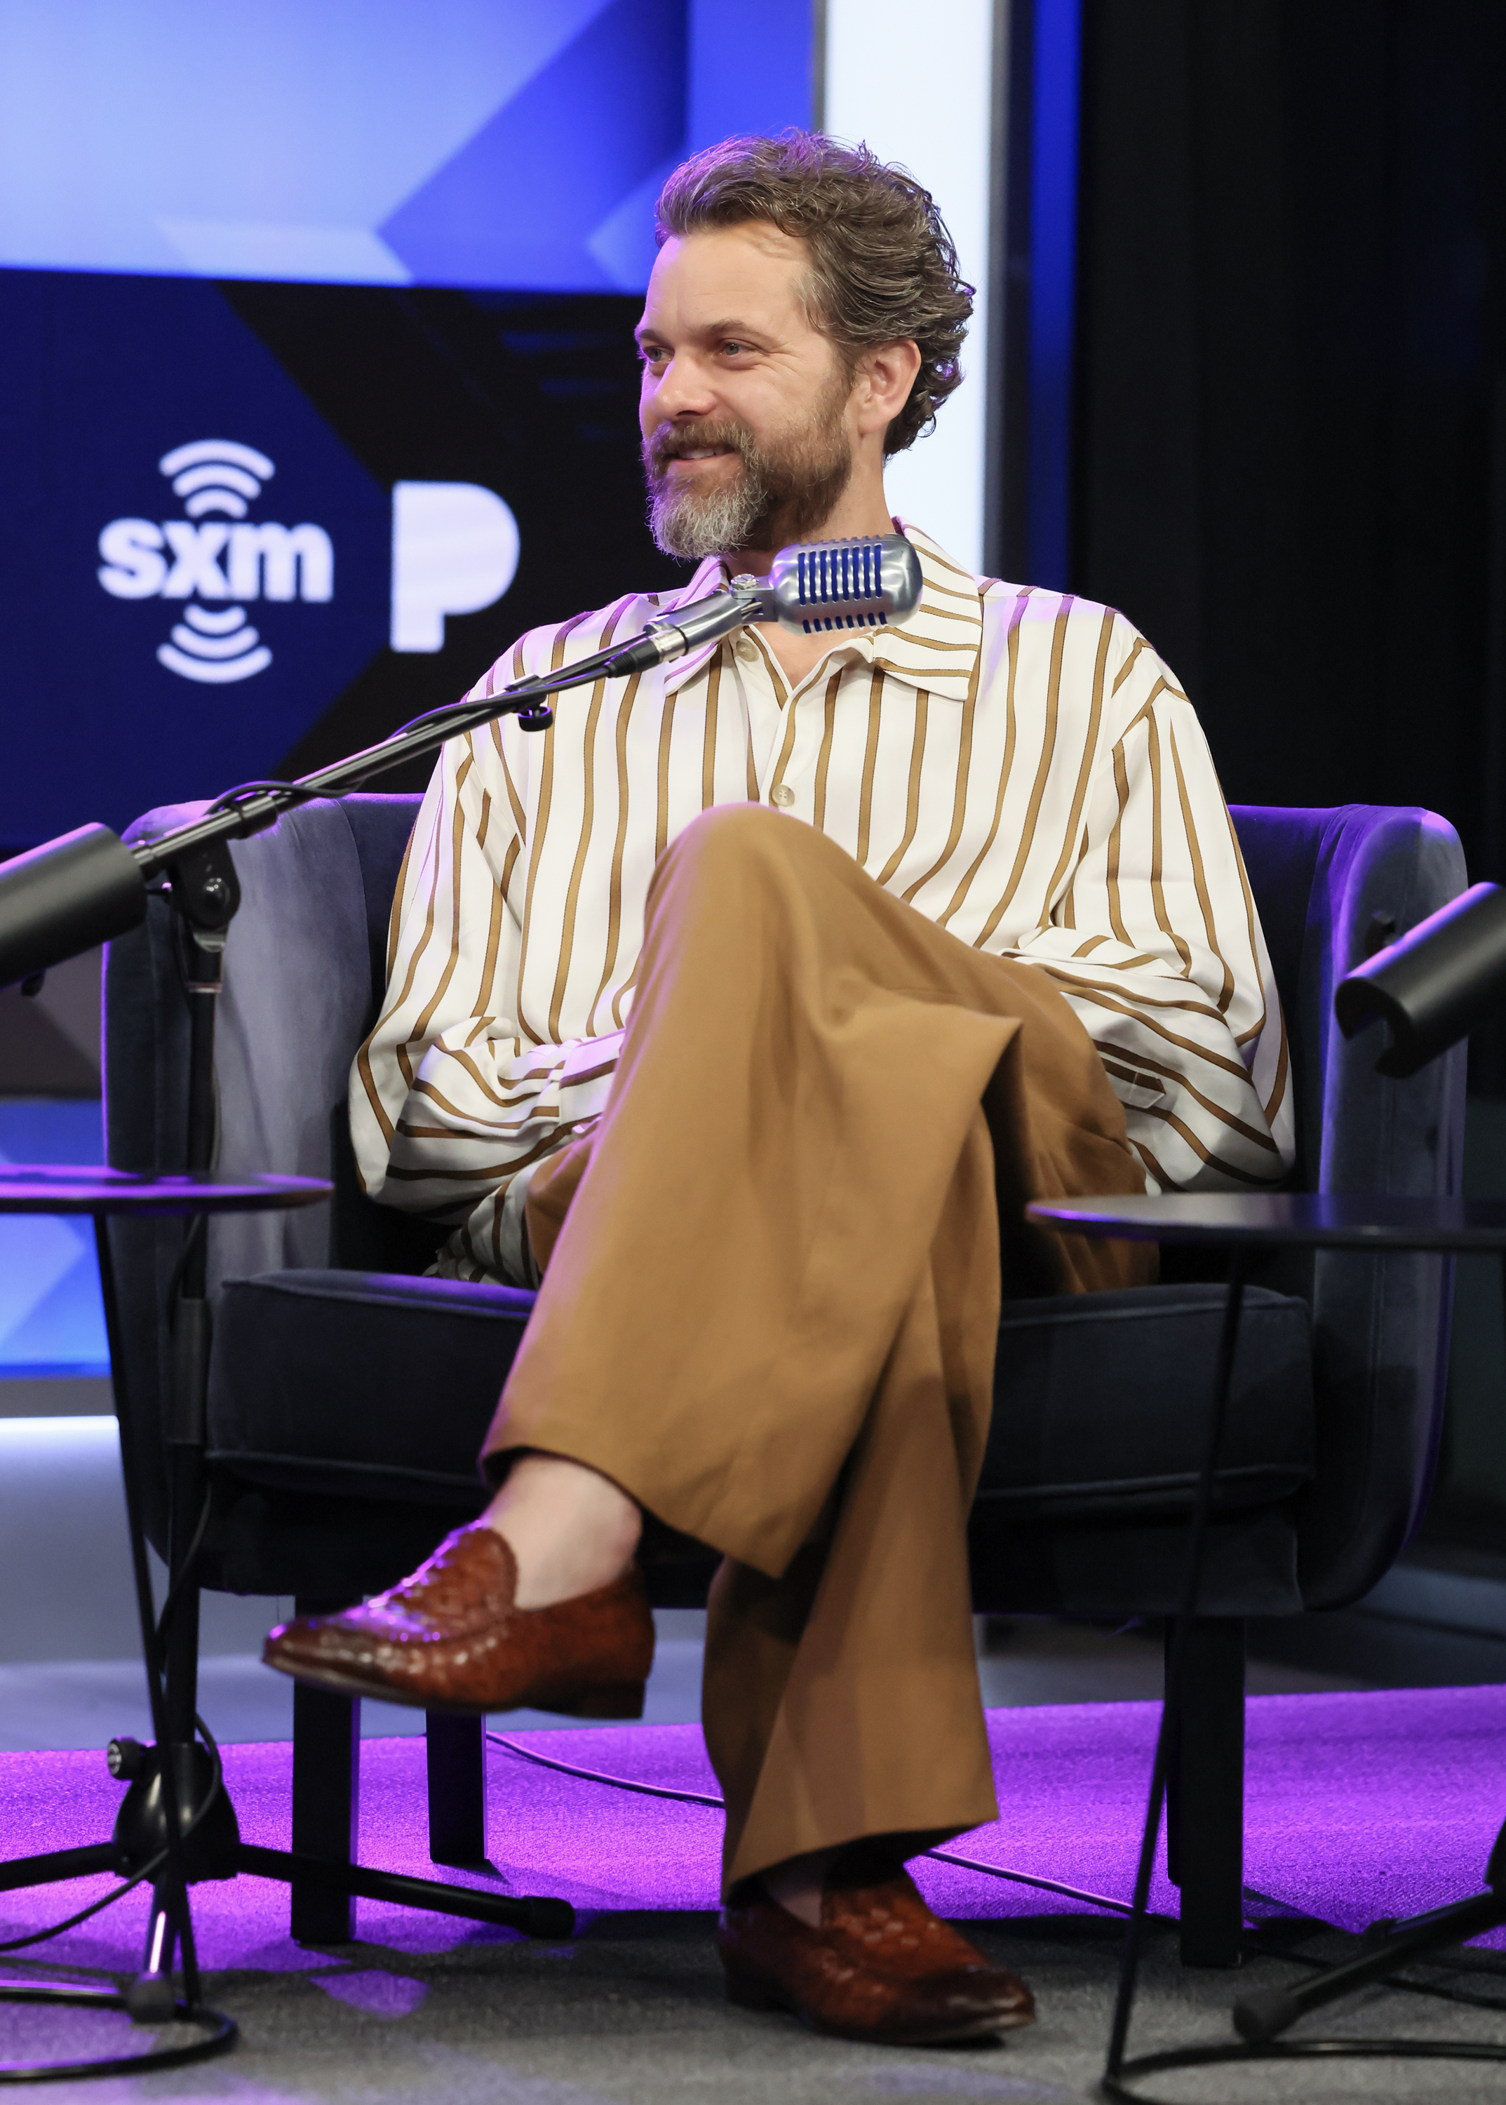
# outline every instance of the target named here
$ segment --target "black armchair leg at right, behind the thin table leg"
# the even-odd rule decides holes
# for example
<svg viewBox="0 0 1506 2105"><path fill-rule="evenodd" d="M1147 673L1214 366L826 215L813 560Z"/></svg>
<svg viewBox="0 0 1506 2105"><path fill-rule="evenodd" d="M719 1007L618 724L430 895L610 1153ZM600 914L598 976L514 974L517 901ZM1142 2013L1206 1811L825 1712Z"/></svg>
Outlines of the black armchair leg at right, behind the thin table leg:
<svg viewBox="0 0 1506 2105"><path fill-rule="evenodd" d="M1172 1629L1167 1625L1167 1646ZM1182 1964L1239 1966L1245 1924L1245 1625L1186 1633L1167 1770L1167 1873L1182 1888Z"/></svg>

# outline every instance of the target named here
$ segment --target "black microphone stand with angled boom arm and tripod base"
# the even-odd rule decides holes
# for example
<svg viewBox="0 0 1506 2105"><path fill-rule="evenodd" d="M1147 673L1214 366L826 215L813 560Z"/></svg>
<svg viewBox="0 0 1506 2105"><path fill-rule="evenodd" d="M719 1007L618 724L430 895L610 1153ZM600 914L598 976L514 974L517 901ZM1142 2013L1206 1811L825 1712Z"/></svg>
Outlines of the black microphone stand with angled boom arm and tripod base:
<svg viewBox="0 0 1506 2105"><path fill-rule="evenodd" d="M229 926L240 907L240 882L229 855L231 840L246 840L276 825L284 810L311 798L343 796L374 775L435 751L448 739L475 730L498 716L517 716L524 730L547 730L553 714L547 697L595 678L618 678L665 659L681 657L717 636L757 619L764 596L753 581L715 594L675 619L660 619L627 644L597 650L574 665L541 678L517 680L496 695L433 709L345 760L316 768L290 783L244 783L217 798L187 825L151 840L122 842L103 825L80 827L0 867L0 983L21 979L40 985L48 964L90 949L145 920L147 882L166 876L168 895L183 935L185 989L189 1006L189 1086L185 1162L194 1172L215 1166L215 1017L223 987L223 956ZM162 1168L162 1164L158 1164ZM107 1257L107 1246L101 1250ZM162 2023L172 2014L175 1947L183 1958L187 2010L200 2006L189 1884L202 1878L233 1878L257 1869L271 1878L292 1878L292 1934L326 1941L349 1909L358 1880L347 1878L337 1892L334 1913L326 1888L299 1886L299 1859L278 1850L255 1850L240 1840L236 1810L217 1779L206 1747L196 1743L198 1726L198 1631L200 1591L194 1579L200 1543L210 1513L208 1446L208 1362L212 1345L208 1301L208 1234L204 1219L191 1221L177 1269L168 1309L172 1341L166 1398L166 1490L168 1490L168 1591L156 1631L149 1598L143 1615L147 1688L164 1745L143 1749L133 1762L156 1770L156 1789L145 1806L126 1802L116 1836L88 1852L88 1869L114 1869L166 1852L168 1869L156 1882L147 1922L143 1970L126 2006L137 2023ZM137 1434L137 1427L126 1427ZM139 1440L126 1442L126 1452ZM135 1501L133 1501L135 1516ZM141 1547L141 1545L137 1545ZM139 1558L145 1577L145 1556ZM124 1743L122 1743L124 1745ZM122 1770L124 1775L126 1770ZM130 1770L137 1772L135 1768ZM133 1793L135 1798L137 1793ZM11 1865L6 1886L19 1884ZM61 1876L53 1869L42 1876ZM553 1901L509 1894L473 1894L427 1880L393 1873L360 1873L362 1890L410 1905L505 1922L534 1934L568 1934L570 1909ZM343 1934L349 1934L349 1924Z"/></svg>

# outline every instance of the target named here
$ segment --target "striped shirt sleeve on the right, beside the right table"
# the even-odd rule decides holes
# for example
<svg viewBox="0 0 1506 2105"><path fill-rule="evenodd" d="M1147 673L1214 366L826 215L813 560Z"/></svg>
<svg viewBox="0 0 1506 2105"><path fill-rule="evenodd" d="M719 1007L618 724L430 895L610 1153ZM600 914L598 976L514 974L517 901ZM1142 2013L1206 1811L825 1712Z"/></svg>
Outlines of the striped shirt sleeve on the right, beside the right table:
<svg viewBox="0 0 1506 2105"><path fill-rule="evenodd" d="M1291 1063L1239 840L1186 695L1127 625L1115 655L1077 865L1016 956L1098 1044L1151 1191L1268 1185Z"/></svg>

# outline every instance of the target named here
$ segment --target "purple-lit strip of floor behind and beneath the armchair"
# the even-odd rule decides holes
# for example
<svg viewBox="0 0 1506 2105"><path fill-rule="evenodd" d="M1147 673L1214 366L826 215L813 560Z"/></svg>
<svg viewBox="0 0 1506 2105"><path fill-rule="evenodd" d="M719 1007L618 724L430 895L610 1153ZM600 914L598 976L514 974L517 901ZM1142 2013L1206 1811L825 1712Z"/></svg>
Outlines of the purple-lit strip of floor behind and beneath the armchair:
<svg viewBox="0 0 1506 2105"><path fill-rule="evenodd" d="M1127 1901L1144 1812L1159 1705L1077 1703L989 1713L999 1821L957 1842L970 1857ZM1506 1688L1367 1690L1254 1697L1247 1709L1245 1880L1289 1909L1359 1930L1479 1892L1506 1819ZM212 1724L212 1720L210 1720ZM713 1791L698 1726L562 1728L520 1735L583 1768L644 1783ZM242 1836L288 1846L292 1751L227 1747L225 1781ZM0 1831L6 1855L55 1850L109 1833L120 1785L99 1753L0 1756ZM490 1749L492 1863L513 1894L557 1894L583 1916L717 1905L719 1812L644 1798L536 1768ZM427 1859L421 1739L362 1749L362 1861L454 1884ZM1081 1913L1039 1888L921 1861L917 1880L940 1913L1031 1918ZM0 1897L0 1939L55 1922L107 1880L76 1880ZM69 1966L137 1964L145 1894L69 1932L53 1949ZM1151 1905L1176 1911L1161 1869ZM208 1968L318 1972L328 1993L358 1977L288 1937L288 1888L238 1878L194 1888ZM376 1901L360 1903L362 1939L425 1953L465 1943L511 1943L513 1932ZM1506 1943L1495 1932L1489 1943ZM374 1996L398 1993L374 1974ZM362 1991L364 1993L364 1991ZM387 2012L376 2012L387 2014ZM402 2014L402 2012L398 2012Z"/></svg>

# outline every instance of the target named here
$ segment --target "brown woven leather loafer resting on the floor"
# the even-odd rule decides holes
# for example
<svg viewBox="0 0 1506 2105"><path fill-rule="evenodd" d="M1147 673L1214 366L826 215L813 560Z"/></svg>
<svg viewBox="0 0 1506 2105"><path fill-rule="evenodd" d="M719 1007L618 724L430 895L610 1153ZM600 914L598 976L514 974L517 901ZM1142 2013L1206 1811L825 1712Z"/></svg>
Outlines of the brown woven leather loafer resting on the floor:
<svg viewBox="0 0 1506 2105"><path fill-rule="evenodd" d="M717 1949L728 2002L793 2010L837 2040L944 2046L1035 2019L1029 1987L934 1916L907 1871L829 1882L818 1930L753 1886L724 1907Z"/></svg>

